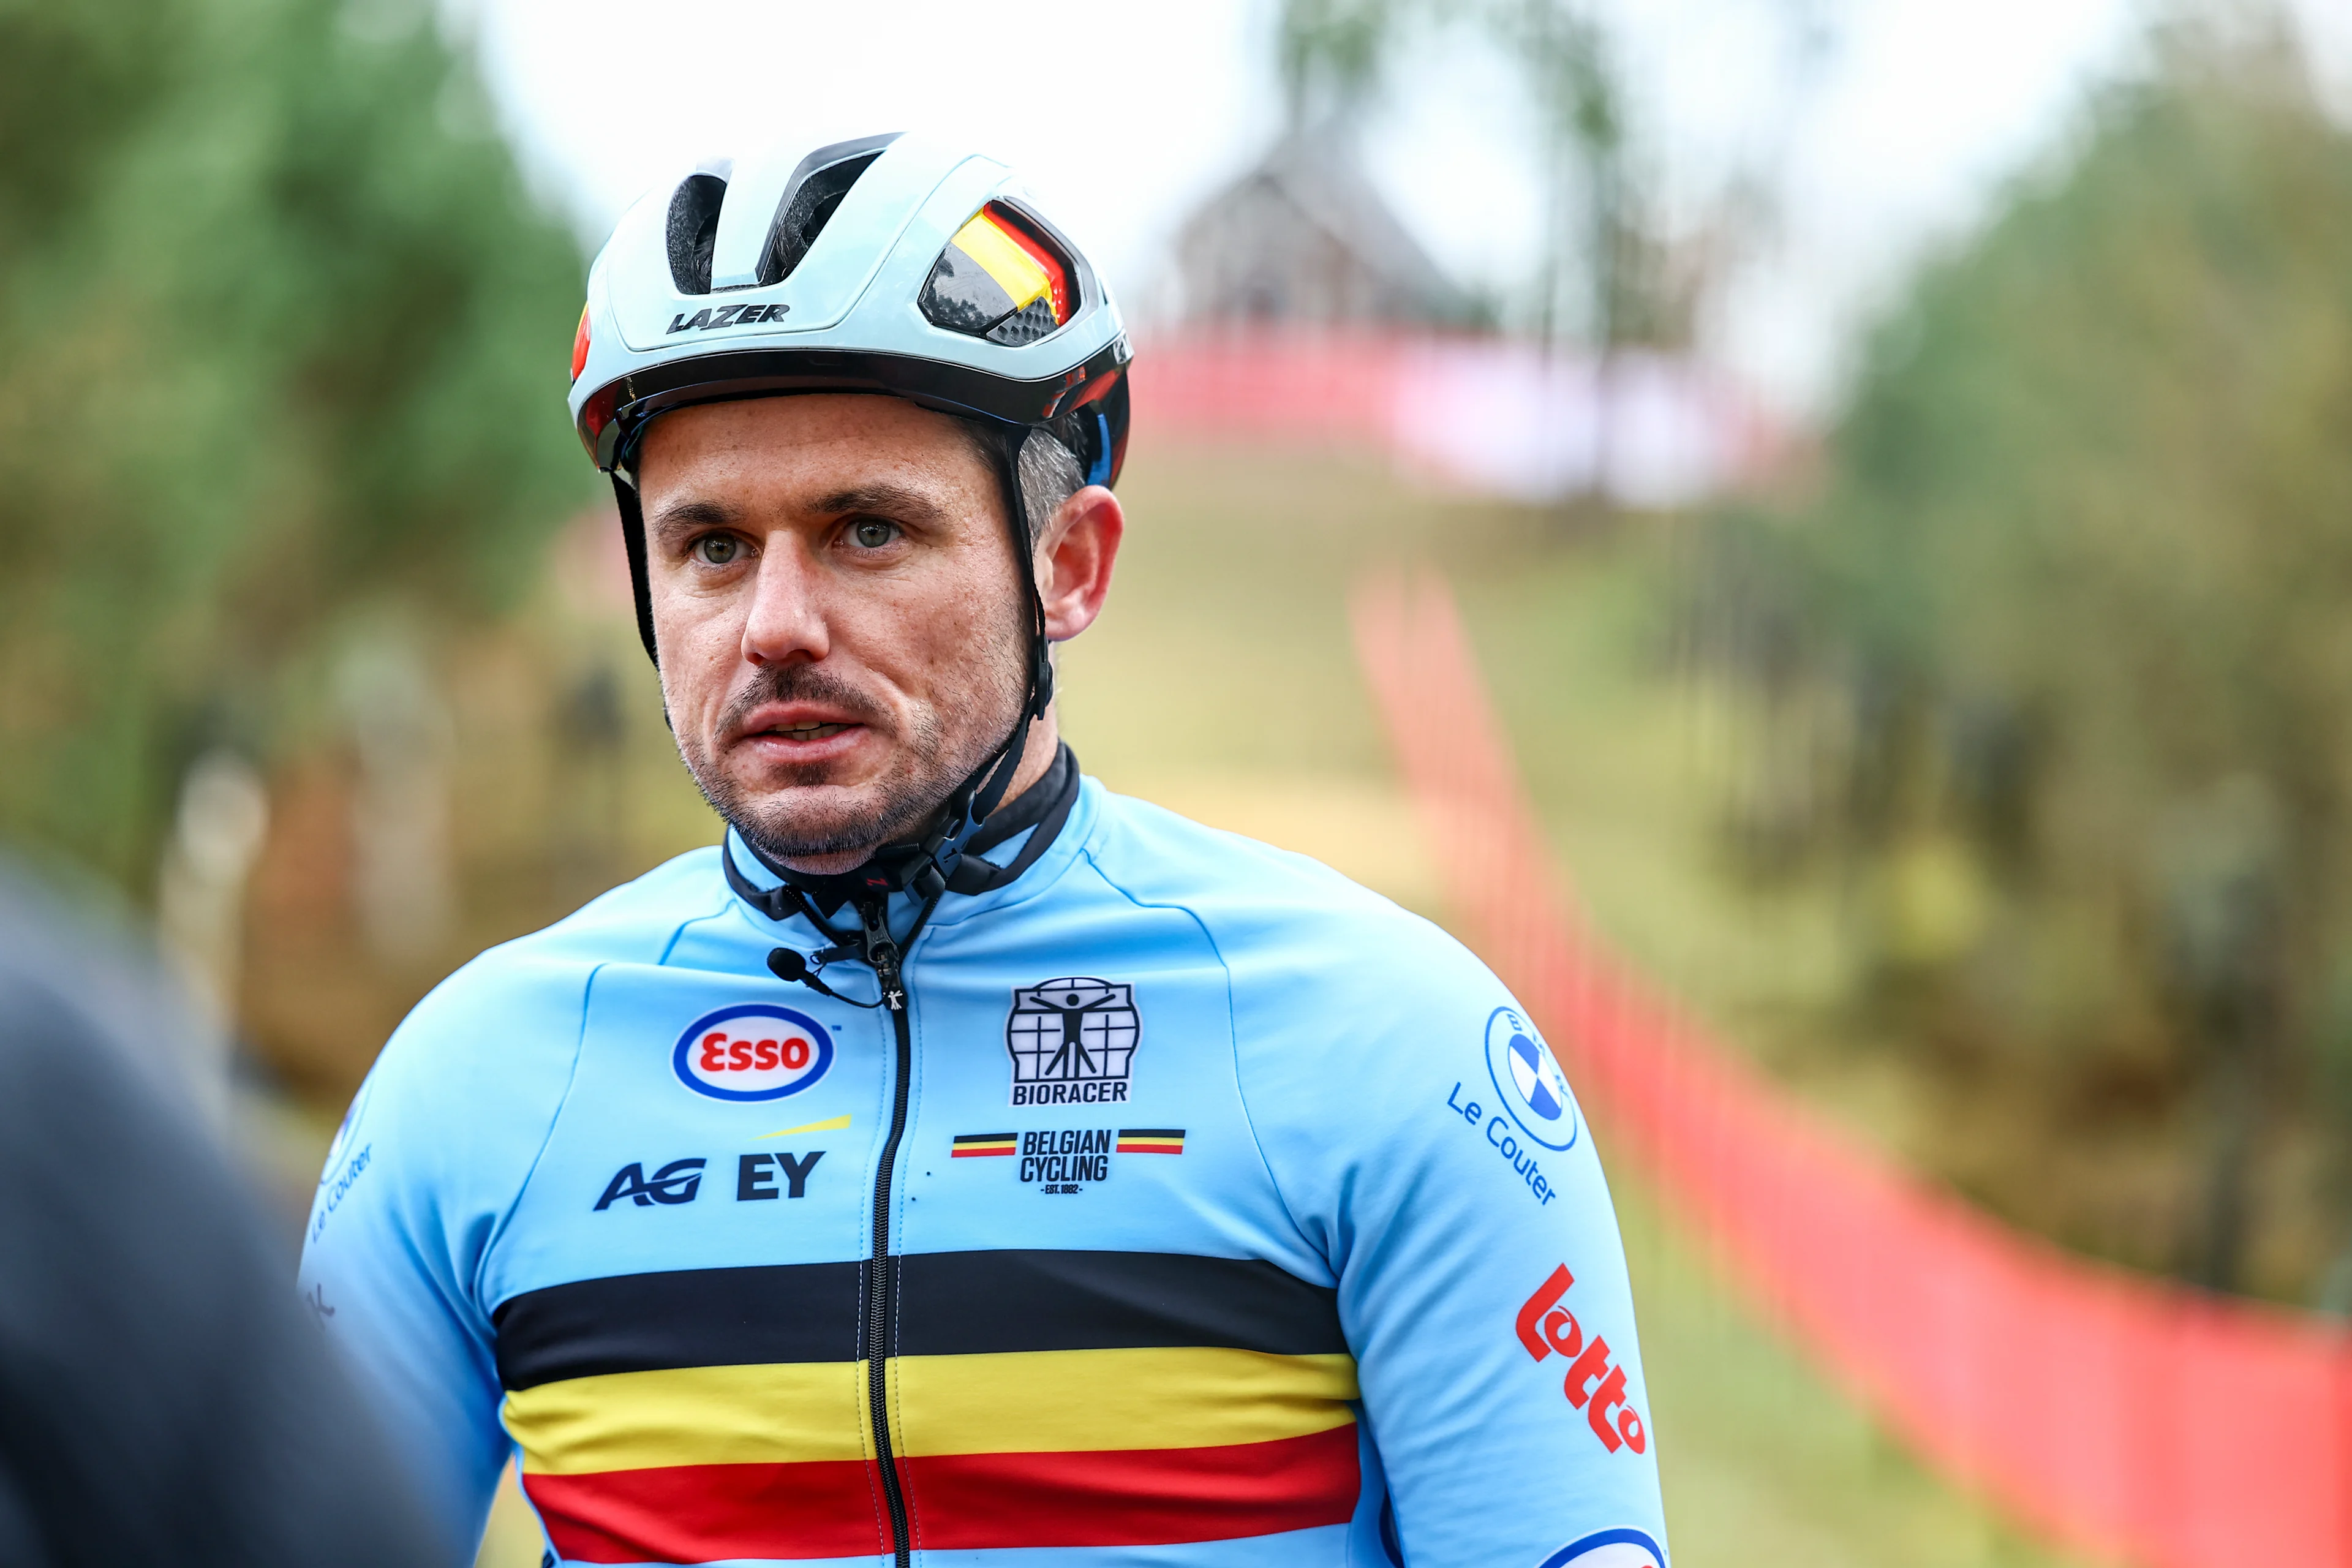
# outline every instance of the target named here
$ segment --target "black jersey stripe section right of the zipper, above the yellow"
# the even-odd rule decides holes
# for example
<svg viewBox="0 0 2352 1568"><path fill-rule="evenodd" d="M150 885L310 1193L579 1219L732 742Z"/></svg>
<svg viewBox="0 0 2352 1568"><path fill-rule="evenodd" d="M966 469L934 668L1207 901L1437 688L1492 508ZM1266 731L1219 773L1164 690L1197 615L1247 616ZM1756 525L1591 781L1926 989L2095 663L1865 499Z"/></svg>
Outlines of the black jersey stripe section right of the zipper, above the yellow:
<svg viewBox="0 0 2352 1568"><path fill-rule="evenodd" d="M1345 1354L1338 1291L1256 1258L1183 1253L908 1253L898 1354L1216 1345Z"/></svg>

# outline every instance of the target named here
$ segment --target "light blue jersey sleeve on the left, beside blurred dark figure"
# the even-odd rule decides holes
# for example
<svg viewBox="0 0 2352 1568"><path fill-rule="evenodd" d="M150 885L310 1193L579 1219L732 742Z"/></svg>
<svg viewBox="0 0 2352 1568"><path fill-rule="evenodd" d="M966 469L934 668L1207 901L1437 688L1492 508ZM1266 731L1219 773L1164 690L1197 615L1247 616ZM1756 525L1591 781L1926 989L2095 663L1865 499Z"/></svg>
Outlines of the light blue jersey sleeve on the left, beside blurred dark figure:
<svg viewBox="0 0 2352 1568"><path fill-rule="evenodd" d="M327 1152L301 1293L473 1561L510 1443L482 1274L579 1051L583 980L494 950L393 1032ZM517 973L520 971L520 973Z"/></svg>

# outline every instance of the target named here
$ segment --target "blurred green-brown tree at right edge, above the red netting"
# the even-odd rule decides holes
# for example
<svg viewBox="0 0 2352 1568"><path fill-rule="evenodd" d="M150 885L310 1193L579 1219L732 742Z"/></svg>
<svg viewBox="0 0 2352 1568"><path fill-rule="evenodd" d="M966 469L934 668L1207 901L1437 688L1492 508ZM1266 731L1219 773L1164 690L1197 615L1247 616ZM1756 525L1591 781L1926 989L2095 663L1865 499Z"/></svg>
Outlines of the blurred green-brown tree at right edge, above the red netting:
<svg viewBox="0 0 2352 1568"><path fill-rule="evenodd" d="M2058 1135L2154 1074L2213 1286L2347 1034L2347 520L2352 136L2284 31L2180 24L1924 273L1783 534L1856 693L1886 964ZM1931 863L1971 917L1905 947Z"/></svg>

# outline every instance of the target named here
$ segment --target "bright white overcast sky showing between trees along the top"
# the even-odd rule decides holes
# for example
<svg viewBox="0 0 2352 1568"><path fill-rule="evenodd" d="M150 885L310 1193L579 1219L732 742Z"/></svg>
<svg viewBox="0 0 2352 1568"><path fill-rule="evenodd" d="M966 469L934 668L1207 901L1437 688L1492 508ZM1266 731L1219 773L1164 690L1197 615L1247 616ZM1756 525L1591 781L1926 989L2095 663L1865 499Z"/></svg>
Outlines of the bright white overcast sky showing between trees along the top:
<svg viewBox="0 0 2352 1568"><path fill-rule="evenodd" d="M447 0L534 176L602 240L647 186L769 139L929 129L1007 158L1150 310L1183 216L1279 129L1272 0L988 12L946 0ZM1618 0L1635 134L1675 209L1733 169L1778 193L1710 350L1795 407L1835 395L1922 247L2046 155L2129 68L2136 0ZM2343 78L2340 0L2300 0ZM1820 28L1790 24L1811 12ZM1054 19L1065 19L1056 26ZM1813 40L1811 47L1804 40ZM1538 263L1531 118L1468 31L1416 42L1367 134L1374 179L1468 284Z"/></svg>

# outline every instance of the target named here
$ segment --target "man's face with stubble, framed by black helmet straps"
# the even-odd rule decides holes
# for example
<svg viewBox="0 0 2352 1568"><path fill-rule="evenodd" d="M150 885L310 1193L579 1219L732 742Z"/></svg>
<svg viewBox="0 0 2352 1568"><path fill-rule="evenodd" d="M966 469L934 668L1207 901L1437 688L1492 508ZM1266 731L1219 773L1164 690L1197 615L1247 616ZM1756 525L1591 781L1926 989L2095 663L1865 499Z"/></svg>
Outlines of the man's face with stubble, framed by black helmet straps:
<svg viewBox="0 0 2352 1568"><path fill-rule="evenodd" d="M1011 733L1028 607L953 418L866 395L680 409L637 477L677 750L769 856L854 867Z"/></svg>

